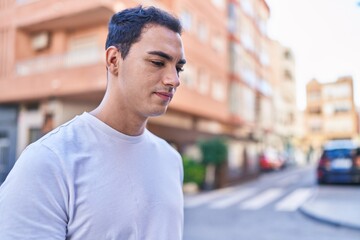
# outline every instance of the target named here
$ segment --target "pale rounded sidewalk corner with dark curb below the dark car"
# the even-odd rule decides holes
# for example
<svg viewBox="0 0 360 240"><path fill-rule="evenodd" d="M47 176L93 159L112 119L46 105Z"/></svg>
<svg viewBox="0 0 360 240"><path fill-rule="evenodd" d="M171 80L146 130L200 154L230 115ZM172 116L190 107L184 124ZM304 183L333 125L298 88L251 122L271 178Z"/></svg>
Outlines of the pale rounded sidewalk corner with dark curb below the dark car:
<svg viewBox="0 0 360 240"><path fill-rule="evenodd" d="M322 222L360 230L360 186L319 186L300 211Z"/></svg>

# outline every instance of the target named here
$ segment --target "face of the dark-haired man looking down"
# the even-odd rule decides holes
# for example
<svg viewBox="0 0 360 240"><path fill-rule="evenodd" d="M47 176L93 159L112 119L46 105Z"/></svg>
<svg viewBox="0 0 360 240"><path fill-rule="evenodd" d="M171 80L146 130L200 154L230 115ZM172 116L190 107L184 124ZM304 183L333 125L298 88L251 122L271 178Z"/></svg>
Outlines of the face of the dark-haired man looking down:
<svg viewBox="0 0 360 240"><path fill-rule="evenodd" d="M126 112L144 118L163 114L180 84L184 64L178 33L158 25L145 27L140 41L119 63L118 86Z"/></svg>

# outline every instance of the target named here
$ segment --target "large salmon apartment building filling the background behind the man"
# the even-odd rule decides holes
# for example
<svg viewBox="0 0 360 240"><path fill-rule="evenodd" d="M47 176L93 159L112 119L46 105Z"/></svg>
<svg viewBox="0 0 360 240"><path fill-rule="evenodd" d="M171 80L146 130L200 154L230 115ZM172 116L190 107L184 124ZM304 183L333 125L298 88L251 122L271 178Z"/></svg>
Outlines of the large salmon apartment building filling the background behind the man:
<svg viewBox="0 0 360 240"><path fill-rule="evenodd" d="M229 182L258 173L257 155L277 134L264 0L3 0L3 175L29 143L99 104L107 23L113 13L139 4L180 18L187 59L168 112L148 128L184 154L199 139L226 136Z"/></svg>

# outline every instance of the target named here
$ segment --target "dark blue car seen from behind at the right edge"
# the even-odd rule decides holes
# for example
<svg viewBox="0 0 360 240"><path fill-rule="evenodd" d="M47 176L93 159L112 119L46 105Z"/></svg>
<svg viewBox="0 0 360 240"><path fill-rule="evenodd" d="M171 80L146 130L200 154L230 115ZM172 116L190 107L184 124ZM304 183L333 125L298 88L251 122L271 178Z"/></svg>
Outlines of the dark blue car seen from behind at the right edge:
<svg viewBox="0 0 360 240"><path fill-rule="evenodd" d="M352 141L327 143L317 166L318 183L360 183L360 149Z"/></svg>

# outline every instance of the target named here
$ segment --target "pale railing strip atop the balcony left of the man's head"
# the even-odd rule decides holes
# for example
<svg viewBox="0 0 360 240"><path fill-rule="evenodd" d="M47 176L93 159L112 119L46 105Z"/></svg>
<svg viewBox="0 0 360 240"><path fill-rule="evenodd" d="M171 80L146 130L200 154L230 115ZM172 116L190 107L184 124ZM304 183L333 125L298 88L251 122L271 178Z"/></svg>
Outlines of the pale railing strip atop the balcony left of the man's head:
<svg viewBox="0 0 360 240"><path fill-rule="evenodd" d="M68 52L61 55L37 57L16 64L18 76L81 67L102 62L103 50L98 48Z"/></svg>

